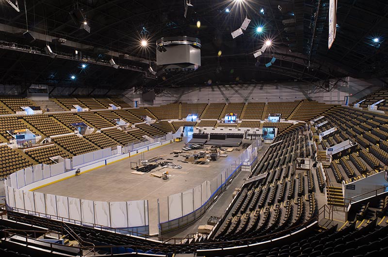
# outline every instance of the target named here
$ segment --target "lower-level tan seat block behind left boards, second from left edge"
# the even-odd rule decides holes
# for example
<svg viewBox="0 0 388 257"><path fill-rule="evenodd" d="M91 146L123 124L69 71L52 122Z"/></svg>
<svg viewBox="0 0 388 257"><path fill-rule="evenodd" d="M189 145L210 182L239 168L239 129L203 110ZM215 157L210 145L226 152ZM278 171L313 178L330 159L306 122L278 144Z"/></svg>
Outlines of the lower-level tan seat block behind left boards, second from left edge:
<svg viewBox="0 0 388 257"><path fill-rule="evenodd" d="M29 155L33 160L38 163L54 164L50 157L61 156L62 158L71 158L72 154L64 149L61 149L58 145L49 145L44 147L36 147L32 149L26 149L25 154Z"/></svg>

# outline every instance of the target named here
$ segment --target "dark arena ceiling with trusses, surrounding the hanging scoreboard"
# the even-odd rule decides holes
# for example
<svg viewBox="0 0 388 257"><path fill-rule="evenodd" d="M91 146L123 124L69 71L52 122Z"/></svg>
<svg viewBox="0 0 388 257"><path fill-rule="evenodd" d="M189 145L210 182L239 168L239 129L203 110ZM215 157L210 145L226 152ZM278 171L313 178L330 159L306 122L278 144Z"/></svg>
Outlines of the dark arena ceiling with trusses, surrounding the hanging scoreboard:
<svg viewBox="0 0 388 257"><path fill-rule="evenodd" d="M304 81L330 90L346 76L388 77L386 0L339 0L337 36L331 49L327 43L329 0L191 0L190 18L183 16L184 2L19 0L17 12L7 0L0 0L1 83L149 90ZM81 10L90 33L72 19L69 13L74 10ZM240 27L245 16L252 20L250 26L233 39L230 32ZM262 32L257 32L259 26ZM27 29L35 41L22 35ZM198 70L163 73L155 66L155 41L174 35L201 40ZM55 38L67 41L60 44ZM140 46L142 39L148 42L146 48ZM268 39L270 51L255 59L253 52ZM45 52L46 44L57 53L55 58ZM89 61L80 62L81 56ZM109 64L112 57L119 69ZM264 64L273 57L275 63L267 68ZM158 69L157 78L147 72L150 64Z"/></svg>

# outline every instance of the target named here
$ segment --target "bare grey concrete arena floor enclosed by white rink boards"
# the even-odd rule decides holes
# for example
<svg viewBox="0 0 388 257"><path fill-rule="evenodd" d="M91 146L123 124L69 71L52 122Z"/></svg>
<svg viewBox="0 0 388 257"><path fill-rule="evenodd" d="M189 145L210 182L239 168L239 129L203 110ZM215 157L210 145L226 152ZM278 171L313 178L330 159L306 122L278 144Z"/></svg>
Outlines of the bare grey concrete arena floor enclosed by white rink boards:
<svg viewBox="0 0 388 257"><path fill-rule="evenodd" d="M95 201L131 201L148 200L149 212L149 232L158 233L158 213L157 199L159 198L161 207L161 221L166 221L167 214L167 196L184 192L191 189L205 180L212 181L221 171L229 168L235 162L241 151L232 151L228 157L219 158L218 161L210 161L205 165L184 163L178 160L184 160L179 156L174 158L170 154L173 150L181 150L184 143L190 140L185 137L183 142L165 145L157 149L148 151L129 159L118 161L105 167L82 174L80 177L71 177L63 181L37 189L36 192L63 195ZM262 150L262 152L264 152ZM165 156L164 156L165 155ZM131 174L130 162L138 162L141 159L150 159L156 156L164 156L164 161L174 159L173 162L180 164L182 169L168 169L170 178L151 177L149 174L135 175ZM236 185L235 187L240 187ZM233 190L228 190L232 194ZM231 199L231 196L230 196ZM211 214L211 213L210 213ZM191 232L191 231L190 231ZM188 233L190 233L188 232Z"/></svg>

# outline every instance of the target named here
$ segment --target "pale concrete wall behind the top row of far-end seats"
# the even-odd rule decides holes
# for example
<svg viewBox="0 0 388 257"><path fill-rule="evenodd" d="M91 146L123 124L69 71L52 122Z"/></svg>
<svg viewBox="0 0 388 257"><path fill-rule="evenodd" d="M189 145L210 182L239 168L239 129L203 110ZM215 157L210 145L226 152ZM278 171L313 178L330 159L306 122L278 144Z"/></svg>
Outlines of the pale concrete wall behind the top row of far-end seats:
<svg viewBox="0 0 388 257"><path fill-rule="evenodd" d="M332 84L336 82L337 80L330 81ZM366 82L348 77L344 78L343 81L340 80L337 82L335 88L331 92L327 92L312 84L292 82L170 88L156 96L153 103L143 102L141 94L131 90L127 91L125 96L130 99L137 99L139 101L139 106L158 106L172 102L275 102L295 101L306 98L328 104L344 104L345 96L350 96L352 94L357 98L362 97L380 86L378 81Z"/></svg>

